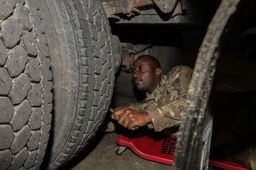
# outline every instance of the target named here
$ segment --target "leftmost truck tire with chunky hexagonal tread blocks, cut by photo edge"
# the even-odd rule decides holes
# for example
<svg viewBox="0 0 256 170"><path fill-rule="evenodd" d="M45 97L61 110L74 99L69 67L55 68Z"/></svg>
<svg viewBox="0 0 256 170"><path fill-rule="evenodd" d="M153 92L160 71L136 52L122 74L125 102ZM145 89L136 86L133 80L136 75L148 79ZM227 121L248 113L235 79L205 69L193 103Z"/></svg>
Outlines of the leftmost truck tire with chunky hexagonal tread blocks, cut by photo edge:
<svg viewBox="0 0 256 170"><path fill-rule="evenodd" d="M0 169L39 169L52 111L52 72L40 9L0 3Z"/></svg>

